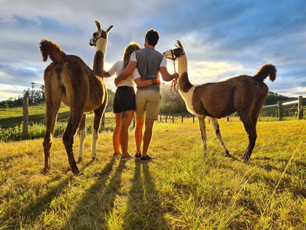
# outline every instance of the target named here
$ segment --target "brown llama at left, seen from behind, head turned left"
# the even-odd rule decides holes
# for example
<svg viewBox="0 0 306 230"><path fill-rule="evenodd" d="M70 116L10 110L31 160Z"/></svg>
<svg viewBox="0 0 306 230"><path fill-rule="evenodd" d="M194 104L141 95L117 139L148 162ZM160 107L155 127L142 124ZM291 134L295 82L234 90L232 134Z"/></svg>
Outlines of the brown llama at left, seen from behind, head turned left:
<svg viewBox="0 0 306 230"><path fill-rule="evenodd" d="M96 144L98 129L107 103L107 91L104 84L103 64L107 45L107 33L101 29L99 21L95 20L97 32L93 33L89 44L96 46L93 69L91 70L82 59L74 55L67 55L61 47L53 41L43 38L39 41L39 48L43 61L49 58L53 61L44 72L46 92L46 133L43 140L44 171L50 168L50 149L52 136L58 114L63 102L70 108L67 127L63 133L63 143L68 155L68 162L74 174L79 169L73 156L73 136L79 128L79 160L83 159L83 144L86 137L86 113L94 111L94 125L91 142L91 158L97 159Z"/></svg>

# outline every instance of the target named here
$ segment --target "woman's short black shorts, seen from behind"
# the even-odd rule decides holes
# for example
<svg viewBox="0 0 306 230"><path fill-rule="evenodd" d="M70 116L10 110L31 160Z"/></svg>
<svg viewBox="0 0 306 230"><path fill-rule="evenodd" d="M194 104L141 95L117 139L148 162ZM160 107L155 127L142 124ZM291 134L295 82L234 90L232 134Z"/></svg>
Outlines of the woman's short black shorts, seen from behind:
<svg viewBox="0 0 306 230"><path fill-rule="evenodd" d="M113 112L135 110L135 90L131 86L119 86L115 92Z"/></svg>

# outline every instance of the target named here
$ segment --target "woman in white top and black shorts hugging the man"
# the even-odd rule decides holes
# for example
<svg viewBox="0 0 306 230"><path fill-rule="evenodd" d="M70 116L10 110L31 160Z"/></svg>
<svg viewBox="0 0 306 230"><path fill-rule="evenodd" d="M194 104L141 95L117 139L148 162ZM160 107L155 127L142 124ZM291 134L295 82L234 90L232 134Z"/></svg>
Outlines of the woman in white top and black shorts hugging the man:
<svg viewBox="0 0 306 230"><path fill-rule="evenodd" d="M123 71L129 63L132 52L141 49L140 44L131 42L124 50L122 61L116 62L109 71L104 71L104 77L117 76ZM137 80L136 80L137 79ZM116 128L113 134L114 156L120 154L119 144L121 145L122 160L134 158L128 153L129 132L128 128L132 122L135 111L135 82L137 86L146 87L154 83L160 84L159 78L153 80L141 80L141 76L135 68L132 75L127 79L119 82L114 96L113 112L115 113Z"/></svg>

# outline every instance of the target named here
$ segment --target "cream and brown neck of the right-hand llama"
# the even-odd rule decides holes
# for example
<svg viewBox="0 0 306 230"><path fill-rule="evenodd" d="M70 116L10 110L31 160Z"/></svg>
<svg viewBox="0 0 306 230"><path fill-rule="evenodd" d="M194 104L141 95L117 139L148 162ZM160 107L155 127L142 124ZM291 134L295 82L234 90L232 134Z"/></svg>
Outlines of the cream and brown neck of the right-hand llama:
<svg viewBox="0 0 306 230"><path fill-rule="evenodd" d="M187 56L181 56L178 60L178 74L179 78L177 79L179 90L187 93L191 87L193 86L189 79L188 79L188 72L187 72Z"/></svg>

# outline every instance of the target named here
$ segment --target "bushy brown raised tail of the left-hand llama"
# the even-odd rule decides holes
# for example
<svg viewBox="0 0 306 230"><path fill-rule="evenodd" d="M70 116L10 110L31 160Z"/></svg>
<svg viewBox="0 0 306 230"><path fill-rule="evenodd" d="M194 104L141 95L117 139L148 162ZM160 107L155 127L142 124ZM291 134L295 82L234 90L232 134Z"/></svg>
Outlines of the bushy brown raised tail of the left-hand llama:
<svg viewBox="0 0 306 230"><path fill-rule="evenodd" d="M48 56L52 61L64 62L66 56L62 48L51 40L47 40L45 37L39 41L40 55L43 57L43 61L47 61Z"/></svg>

